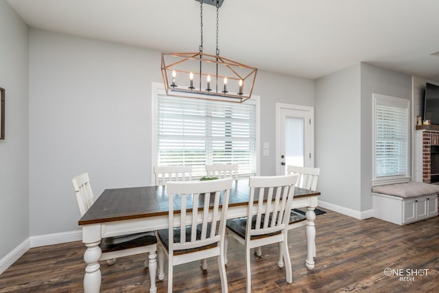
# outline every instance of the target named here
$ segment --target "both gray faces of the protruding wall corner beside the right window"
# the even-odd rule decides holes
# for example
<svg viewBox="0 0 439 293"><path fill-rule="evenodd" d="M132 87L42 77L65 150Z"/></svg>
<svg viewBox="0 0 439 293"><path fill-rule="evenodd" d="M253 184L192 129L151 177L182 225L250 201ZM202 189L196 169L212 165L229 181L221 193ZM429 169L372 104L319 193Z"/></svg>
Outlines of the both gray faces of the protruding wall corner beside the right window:
<svg viewBox="0 0 439 293"><path fill-rule="evenodd" d="M359 63L316 81L320 200L359 213L372 209L372 93L411 99L412 78Z"/></svg>

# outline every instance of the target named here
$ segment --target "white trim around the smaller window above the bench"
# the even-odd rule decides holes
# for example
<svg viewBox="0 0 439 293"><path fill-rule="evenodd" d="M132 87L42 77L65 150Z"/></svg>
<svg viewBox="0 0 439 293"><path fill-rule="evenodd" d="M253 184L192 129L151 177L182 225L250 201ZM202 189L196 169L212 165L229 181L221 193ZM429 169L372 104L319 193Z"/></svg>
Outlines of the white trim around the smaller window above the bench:
<svg viewBox="0 0 439 293"><path fill-rule="evenodd" d="M402 106L407 109L407 173L399 176L386 176L385 178L379 178L376 174L377 167L377 105L384 103L392 103ZM372 186L375 185L385 185L392 183L406 183L412 179L411 177L411 132L410 126L412 125L410 122L410 100L402 99L400 97L391 97L389 95L380 95L377 93L372 94Z"/></svg>

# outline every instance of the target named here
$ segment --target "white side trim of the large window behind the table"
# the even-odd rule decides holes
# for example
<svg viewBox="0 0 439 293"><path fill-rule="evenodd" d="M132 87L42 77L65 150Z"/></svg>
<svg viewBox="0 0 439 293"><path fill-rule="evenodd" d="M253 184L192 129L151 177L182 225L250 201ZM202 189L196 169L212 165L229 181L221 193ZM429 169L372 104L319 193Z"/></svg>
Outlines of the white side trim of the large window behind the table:
<svg viewBox="0 0 439 293"><path fill-rule="evenodd" d="M158 82L152 82L151 85L151 182L155 182L154 166L157 165L157 114L158 114L158 95L166 95L165 85ZM246 104L256 105L257 126L256 126L256 175L260 175L261 169L261 97L252 95Z"/></svg>

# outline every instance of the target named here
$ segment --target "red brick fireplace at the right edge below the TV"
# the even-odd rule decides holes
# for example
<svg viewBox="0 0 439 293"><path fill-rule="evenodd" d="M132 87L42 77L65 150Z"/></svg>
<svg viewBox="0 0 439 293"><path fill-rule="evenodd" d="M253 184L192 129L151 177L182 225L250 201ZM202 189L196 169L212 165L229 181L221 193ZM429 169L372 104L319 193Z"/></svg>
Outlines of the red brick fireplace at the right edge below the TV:
<svg viewBox="0 0 439 293"><path fill-rule="evenodd" d="M423 182L439 184L439 131L423 131Z"/></svg>

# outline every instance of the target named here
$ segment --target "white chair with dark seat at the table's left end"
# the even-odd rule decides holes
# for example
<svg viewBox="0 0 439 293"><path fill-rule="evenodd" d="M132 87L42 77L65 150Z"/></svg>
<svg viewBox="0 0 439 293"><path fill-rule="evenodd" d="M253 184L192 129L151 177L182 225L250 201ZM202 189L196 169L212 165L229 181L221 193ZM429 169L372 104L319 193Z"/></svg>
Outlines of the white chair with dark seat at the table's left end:
<svg viewBox="0 0 439 293"><path fill-rule="evenodd" d="M82 217L95 201L88 174L84 173L75 176L72 179L72 183ZM157 238L154 231L105 237L101 239L99 248L102 251L99 261L106 261L109 266L114 264L118 257L147 253L148 257L145 261L145 266L148 267L150 272L150 293L157 292L156 274L158 268L163 268L163 261L160 263L160 259L163 259L163 257L158 257L159 263L157 266Z"/></svg>

